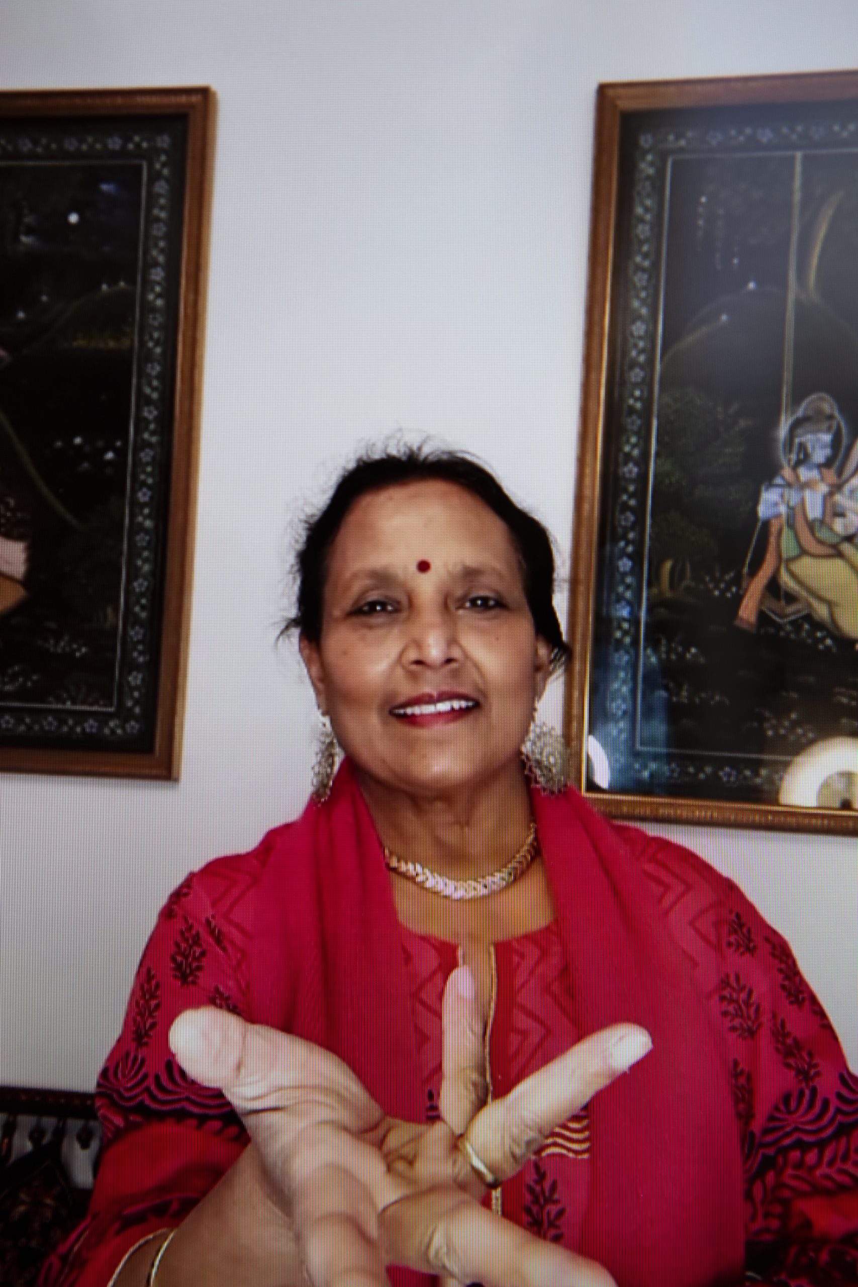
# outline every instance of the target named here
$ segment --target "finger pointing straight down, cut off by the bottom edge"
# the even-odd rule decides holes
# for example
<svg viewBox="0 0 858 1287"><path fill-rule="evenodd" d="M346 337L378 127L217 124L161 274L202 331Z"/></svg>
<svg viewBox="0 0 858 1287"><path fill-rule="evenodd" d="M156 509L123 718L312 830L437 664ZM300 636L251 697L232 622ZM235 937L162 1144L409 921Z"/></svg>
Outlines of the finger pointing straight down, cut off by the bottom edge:
<svg viewBox="0 0 858 1287"><path fill-rule="evenodd" d="M314 1287L388 1287L372 1197L342 1166L319 1169L293 1197L295 1229Z"/></svg>

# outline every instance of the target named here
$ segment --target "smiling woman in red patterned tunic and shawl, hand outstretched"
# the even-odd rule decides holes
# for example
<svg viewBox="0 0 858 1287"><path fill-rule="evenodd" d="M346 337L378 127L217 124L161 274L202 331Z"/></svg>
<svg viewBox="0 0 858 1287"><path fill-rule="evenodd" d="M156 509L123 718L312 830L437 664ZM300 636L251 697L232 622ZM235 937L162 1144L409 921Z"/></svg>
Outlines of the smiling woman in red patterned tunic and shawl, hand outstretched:
<svg viewBox="0 0 858 1287"><path fill-rule="evenodd" d="M163 909L42 1287L858 1281L858 1081L789 947L543 789L544 529L405 449L343 475L298 570L343 764Z"/></svg>

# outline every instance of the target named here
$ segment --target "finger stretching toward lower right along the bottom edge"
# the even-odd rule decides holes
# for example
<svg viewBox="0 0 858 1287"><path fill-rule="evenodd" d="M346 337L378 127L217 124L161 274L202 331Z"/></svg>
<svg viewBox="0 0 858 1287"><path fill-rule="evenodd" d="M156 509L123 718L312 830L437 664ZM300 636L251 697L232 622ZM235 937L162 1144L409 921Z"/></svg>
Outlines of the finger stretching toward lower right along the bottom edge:
<svg viewBox="0 0 858 1287"><path fill-rule="evenodd" d="M405 1197L381 1219L388 1263L484 1287L616 1287L601 1265L509 1220L448 1187Z"/></svg>

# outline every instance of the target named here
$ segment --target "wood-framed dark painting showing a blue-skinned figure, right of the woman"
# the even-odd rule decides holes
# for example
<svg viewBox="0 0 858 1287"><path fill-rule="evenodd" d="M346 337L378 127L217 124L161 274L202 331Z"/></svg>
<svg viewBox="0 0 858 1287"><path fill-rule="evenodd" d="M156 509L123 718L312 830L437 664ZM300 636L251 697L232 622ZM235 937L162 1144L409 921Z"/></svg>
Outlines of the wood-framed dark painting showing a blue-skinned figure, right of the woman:
<svg viewBox="0 0 858 1287"><path fill-rule="evenodd" d="M590 256L579 784L858 833L858 73L602 85Z"/></svg>

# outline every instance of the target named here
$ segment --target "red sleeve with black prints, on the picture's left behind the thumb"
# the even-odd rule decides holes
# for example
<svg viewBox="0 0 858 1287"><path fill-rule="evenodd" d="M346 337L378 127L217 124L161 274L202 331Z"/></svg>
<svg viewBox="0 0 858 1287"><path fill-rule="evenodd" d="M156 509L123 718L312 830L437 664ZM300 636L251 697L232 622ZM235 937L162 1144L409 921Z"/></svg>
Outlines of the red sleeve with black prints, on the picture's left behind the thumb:
<svg viewBox="0 0 858 1287"><path fill-rule="evenodd" d="M162 909L98 1079L104 1147L89 1215L48 1261L40 1287L105 1287L125 1252L179 1224L243 1149L232 1106L187 1076L167 1035L193 1006L246 1013L250 925L237 909L247 876L246 860L210 864Z"/></svg>

